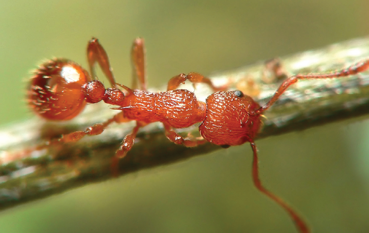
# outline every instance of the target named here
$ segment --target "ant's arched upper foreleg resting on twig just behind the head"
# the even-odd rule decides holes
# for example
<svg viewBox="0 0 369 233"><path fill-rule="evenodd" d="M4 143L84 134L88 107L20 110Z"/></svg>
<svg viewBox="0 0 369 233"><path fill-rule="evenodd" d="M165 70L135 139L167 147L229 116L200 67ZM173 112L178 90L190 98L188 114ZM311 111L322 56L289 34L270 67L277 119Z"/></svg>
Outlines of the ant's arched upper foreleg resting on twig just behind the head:
<svg viewBox="0 0 369 233"><path fill-rule="evenodd" d="M189 73L187 75L185 74L179 74L177 76L174 76L171 78L168 82L167 90L175 90L180 86L180 84L184 83L184 81L189 80L191 83L203 83L209 85L214 91L220 91L220 90L226 90L229 86L228 84L221 86L221 87L215 87L212 81L209 78L206 78L202 76L199 73Z"/></svg>

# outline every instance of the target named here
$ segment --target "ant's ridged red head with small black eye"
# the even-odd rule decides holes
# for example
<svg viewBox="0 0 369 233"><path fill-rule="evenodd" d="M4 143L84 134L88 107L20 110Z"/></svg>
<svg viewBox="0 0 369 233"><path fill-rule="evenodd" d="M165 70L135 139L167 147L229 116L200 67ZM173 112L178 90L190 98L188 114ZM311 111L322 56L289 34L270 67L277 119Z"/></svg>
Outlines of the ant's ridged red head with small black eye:
<svg viewBox="0 0 369 233"><path fill-rule="evenodd" d="M261 121L260 108L240 90L218 91L206 99L207 112L199 130L207 141L220 146L237 146L253 139Z"/></svg>

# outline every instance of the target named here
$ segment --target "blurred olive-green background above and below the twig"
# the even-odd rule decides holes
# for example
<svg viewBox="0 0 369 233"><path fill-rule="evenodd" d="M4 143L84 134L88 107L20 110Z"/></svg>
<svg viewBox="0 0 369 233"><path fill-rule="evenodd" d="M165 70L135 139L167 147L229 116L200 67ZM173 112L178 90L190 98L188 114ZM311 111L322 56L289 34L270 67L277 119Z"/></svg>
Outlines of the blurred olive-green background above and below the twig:
<svg viewBox="0 0 369 233"><path fill-rule="evenodd" d="M368 10L368 0L1 1L0 123L32 117L25 81L39 61L87 67L92 36L127 85L131 42L144 37L156 87L368 35ZM264 184L314 232L369 232L368 129L364 117L257 141ZM219 150L2 211L0 233L296 232L250 167L248 145Z"/></svg>

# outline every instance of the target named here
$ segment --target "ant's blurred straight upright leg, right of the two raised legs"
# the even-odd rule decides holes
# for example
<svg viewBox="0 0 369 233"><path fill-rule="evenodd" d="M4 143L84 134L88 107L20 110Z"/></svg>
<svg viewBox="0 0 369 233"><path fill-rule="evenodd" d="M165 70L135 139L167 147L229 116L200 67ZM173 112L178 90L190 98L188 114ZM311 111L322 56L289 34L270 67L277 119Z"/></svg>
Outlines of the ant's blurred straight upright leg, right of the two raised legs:
<svg viewBox="0 0 369 233"><path fill-rule="evenodd" d="M145 44L144 39L136 38L132 44L132 88L146 90L146 73L145 73ZM138 85L137 87L137 80Z"/></svg>

